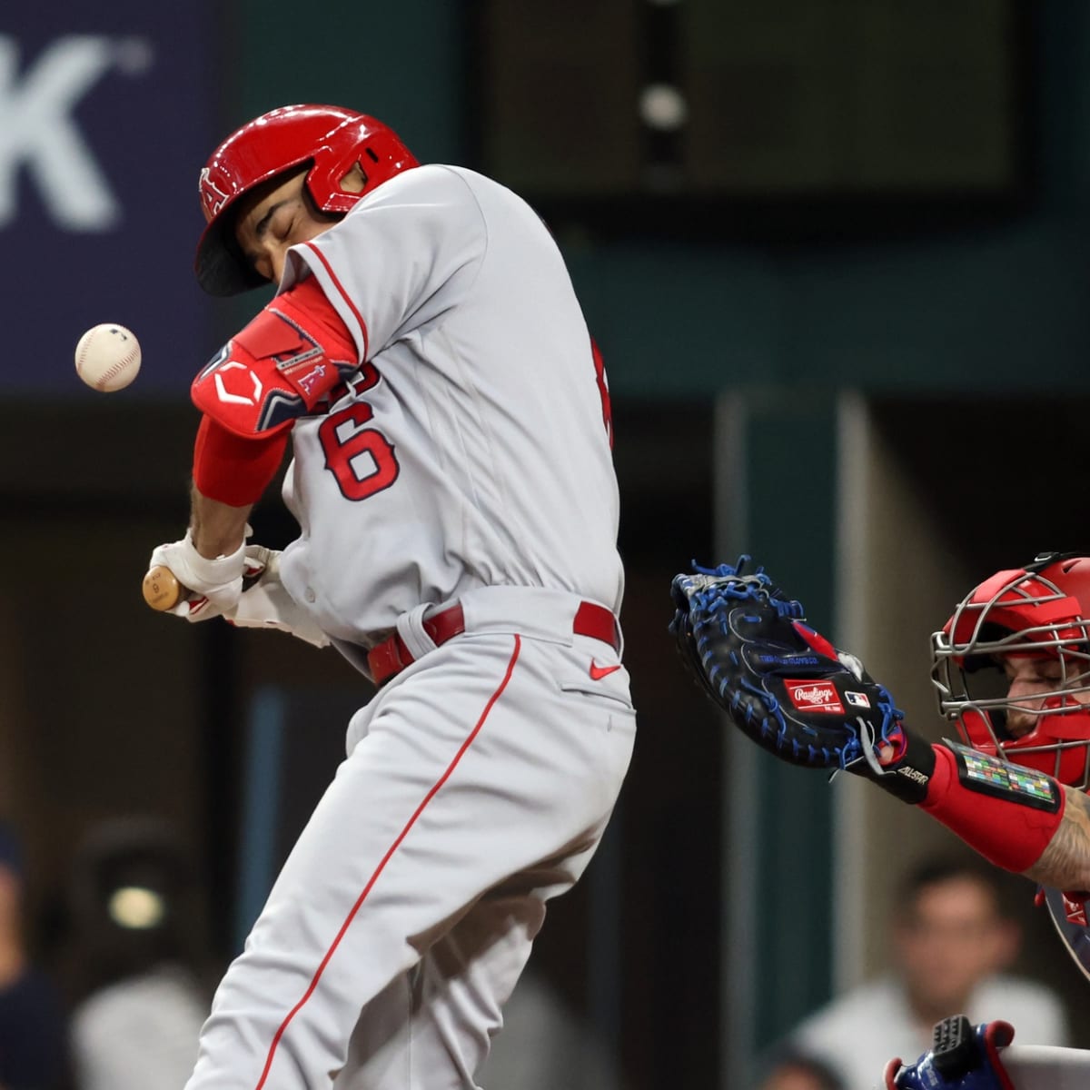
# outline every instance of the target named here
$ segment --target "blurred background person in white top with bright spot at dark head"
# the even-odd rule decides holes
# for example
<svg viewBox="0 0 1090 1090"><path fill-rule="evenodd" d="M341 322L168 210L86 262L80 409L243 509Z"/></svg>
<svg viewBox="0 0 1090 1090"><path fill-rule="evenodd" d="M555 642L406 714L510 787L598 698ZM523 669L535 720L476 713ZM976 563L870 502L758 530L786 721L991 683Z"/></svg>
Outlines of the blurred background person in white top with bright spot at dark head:
<svg viewBox="0 0 1090 1090"><path fill-rule="evenodd" d="M178 1090L189 1078L210 998L192 938L193 893L186 852L157 822L108 822L81 846L76 1090Z"/></svg>

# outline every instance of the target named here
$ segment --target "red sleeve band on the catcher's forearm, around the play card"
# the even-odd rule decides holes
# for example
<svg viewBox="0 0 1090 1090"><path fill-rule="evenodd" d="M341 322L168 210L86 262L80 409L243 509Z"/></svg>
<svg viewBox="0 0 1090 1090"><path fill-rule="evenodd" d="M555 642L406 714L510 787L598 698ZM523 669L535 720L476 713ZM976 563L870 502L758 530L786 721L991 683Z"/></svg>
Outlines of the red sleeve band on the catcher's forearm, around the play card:
<svg viewBox="0 0 1090 1090"><path fill-rule="evenodd" d="M955 749L964 751L964 747L936 742L932 749L935 771L922 809L997 867L1016 873L1032 867L1059 827L1066 799L1059 786L1045 776L1051 788L1033 784L1028 790L1000 789L996 784L1002 777L997 777L984 788L980 770L972 771L973 762L962 758L959 764ZM974 756L1003 766L994 758ZM985 770L985 775L988 771L995 772ZM1027 776L1042 778L1029 772ZM1051 791L1047 809L1041 804L1042 790Z"/></svg>

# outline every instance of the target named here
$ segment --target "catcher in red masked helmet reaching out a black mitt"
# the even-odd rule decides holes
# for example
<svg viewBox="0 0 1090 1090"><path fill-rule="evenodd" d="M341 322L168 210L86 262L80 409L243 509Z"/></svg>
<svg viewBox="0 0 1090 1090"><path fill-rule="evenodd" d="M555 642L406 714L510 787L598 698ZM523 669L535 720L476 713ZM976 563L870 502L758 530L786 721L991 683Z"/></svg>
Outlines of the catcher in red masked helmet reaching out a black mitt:
<svg viewBox="0 0 1090 1090"><path fill-rule="evenodd" d="M1039 883L1090 976L1090 557L1047 553L997 572L933 634L932 680L959 741L909 729L862 663L749 557L679 574L671 592L678 649L735 726L780 760L873 780ZM917 1064L891 1061L886 1087L1090 1085L1090 1053L1007 1049L1013 1037L1005 1022L946 1019Z"/></svg>

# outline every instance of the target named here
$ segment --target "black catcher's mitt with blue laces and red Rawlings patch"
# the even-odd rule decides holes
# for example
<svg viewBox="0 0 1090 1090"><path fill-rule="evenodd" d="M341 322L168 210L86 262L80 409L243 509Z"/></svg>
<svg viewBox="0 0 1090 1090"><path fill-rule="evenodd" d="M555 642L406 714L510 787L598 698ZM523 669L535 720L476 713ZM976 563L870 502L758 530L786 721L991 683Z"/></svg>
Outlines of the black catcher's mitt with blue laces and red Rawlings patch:
<svg viewBox="0 0 1090 1090"><path fill-rule="evenodd" d="M764 573L700 568L675 577L670 631L712 699L759 746L791 764L882 776L876 751L904 744L903 715L853 655L803 623L801 603Z"/></svg>

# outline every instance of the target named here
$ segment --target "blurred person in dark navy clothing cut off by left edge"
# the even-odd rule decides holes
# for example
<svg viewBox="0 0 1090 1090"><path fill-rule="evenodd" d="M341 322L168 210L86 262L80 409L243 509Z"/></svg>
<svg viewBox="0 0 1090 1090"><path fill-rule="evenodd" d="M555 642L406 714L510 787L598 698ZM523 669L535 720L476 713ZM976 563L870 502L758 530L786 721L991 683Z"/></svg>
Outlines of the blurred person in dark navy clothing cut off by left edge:
<svg viewBox="0 0 1090 1090"><path fill-rule="evenodd" d="M22 843L0 821L0 1090L66 1087L60 993L32 960L23 920Z"/></svg>

